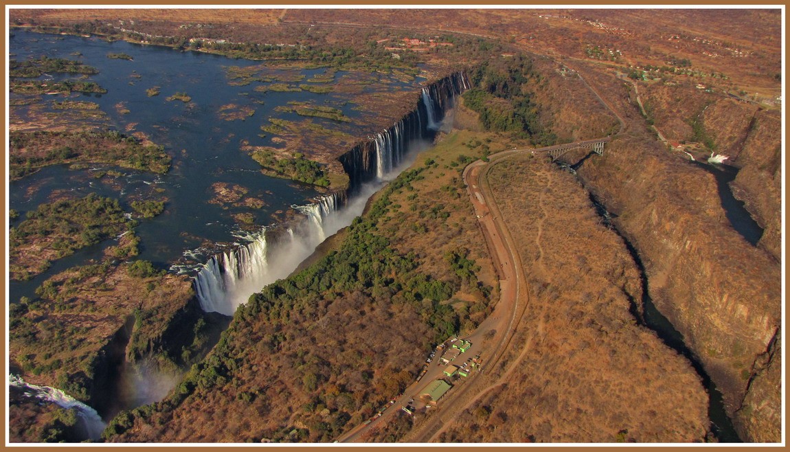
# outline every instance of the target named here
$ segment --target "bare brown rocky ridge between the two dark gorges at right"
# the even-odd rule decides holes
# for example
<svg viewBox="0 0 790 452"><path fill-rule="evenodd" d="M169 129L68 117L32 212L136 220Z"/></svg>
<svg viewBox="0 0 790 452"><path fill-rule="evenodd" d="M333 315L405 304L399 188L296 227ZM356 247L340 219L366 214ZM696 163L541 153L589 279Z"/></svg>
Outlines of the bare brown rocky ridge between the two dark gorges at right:
<svg viewBox="0 0 790 452"><path fill-rule="evenodd" d="M761 363L781 328L778 263L729 226L713 176L649 138L613 140L580 175L618 215L645 262L656 307L702 360L743 439L760 437L747 428L759 422L739 418L772 416L743 403L752 380L771 379ZM760 401L769 410L779 403Z"/></svg>

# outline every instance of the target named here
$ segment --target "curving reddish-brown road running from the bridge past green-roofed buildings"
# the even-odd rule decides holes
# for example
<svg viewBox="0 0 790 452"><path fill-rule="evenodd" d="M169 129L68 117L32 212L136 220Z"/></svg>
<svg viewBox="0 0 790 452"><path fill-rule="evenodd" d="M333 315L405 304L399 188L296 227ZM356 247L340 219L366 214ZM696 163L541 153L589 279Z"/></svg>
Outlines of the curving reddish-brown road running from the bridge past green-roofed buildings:
<svg viewBox="0 0 790 452"><path fill-rule="evenodd" d="M583 142L581 141L581 143ZM472 348L462 356L479 354L483 364L478 370L472 371L468 378L456 382L455 386L438 402L438 407L431 409L432 411L428 412L423 422L416 425L402 439L405 443L427 443L437 440L442 431L455 420L459 412L471 406L488 390L500 386L504 377L513 371L515 363L529 349L528 342L525 349L521 350L520 357L510 363L510 368L505 368L505 364L500 363L502 356L510 348L510 341L521 322L525 309L529 306L529 290L525 282L525 273L516 242L502 220L495 195L488 185L487 176L495 164L510 156L524 152L540 153L543 150L544 148L513 148L489 156L489 162L476 160L464 169L463 179L469 200L472 202L480 232L483 234L498 274L499 301L491 315L474 332L465 337L472 342ZM427 363L424 375L408 386L404 394L390 401L381 415L340 435L337 442L366 442L367 434L385 426L402 406L408 405L412 399L419 400L420 394L425 392L426 387L443 376L442 371L446 365L440 364L439 356L438 353L432 363ZM423 404L416 405L419 407Z"/></svg>

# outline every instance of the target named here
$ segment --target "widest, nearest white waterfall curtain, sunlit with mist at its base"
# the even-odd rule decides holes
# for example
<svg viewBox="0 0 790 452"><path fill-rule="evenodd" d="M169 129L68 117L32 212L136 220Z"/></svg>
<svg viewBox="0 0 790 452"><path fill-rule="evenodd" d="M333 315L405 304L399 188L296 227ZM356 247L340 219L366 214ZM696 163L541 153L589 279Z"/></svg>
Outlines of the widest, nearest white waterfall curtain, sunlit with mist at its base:
<svg viewBox="0 0 790 452"><path fill-rule="evenodd" d="M342 201L340 194L330 194L314 204L294 205L304 217L293 228L263 228L243 235L240 238L248 243L210 258L194 277L203 311L233 315L254 292L288 277L315 247L342 227L333 219ZM276 265L271 265L274 262Z"/></svg>

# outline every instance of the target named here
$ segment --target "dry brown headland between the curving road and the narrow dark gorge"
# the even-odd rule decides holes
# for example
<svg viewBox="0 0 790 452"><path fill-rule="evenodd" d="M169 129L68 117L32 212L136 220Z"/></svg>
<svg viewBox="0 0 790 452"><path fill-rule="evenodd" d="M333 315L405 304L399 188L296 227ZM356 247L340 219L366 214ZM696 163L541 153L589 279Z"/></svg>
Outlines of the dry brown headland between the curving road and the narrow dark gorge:
<svg viewBox="0 0 790 452"><path fill-rule="evenodd" d="M638 270L575 178L531 154L495 160L483 178L517 242L529 304L511 355L434 439L703 441L698 375L629 313Z"/></svg>

